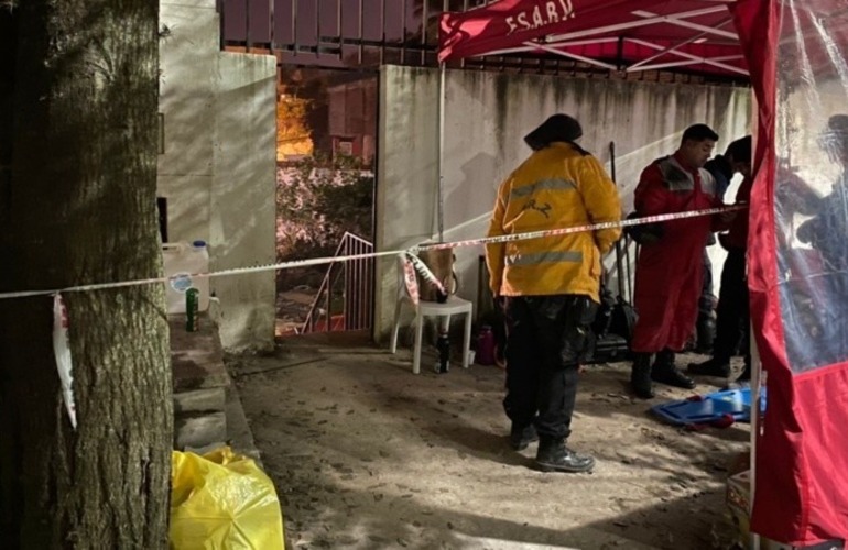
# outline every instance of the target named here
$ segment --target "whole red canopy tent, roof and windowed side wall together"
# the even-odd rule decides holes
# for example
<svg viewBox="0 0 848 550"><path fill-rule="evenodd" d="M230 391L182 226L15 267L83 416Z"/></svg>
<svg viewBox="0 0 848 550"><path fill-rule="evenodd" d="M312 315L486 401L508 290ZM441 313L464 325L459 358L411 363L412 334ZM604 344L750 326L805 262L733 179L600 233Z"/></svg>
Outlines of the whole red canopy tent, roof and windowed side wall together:
<svg viewBox="0 0 848 550"><path fill-rule="evenodd" d="M501 0L443 14L439 61L509 53L750 75L748 271L769 397L752 429L752 529L796 546L848 539L848 260L833 260L848 257L848 191L837 194L848 189L848 145L834 191L815 193L828 164L816 142L828 116L848 112L848 0ZM797 231L826 213L841 246L829 256Z"/></svg>

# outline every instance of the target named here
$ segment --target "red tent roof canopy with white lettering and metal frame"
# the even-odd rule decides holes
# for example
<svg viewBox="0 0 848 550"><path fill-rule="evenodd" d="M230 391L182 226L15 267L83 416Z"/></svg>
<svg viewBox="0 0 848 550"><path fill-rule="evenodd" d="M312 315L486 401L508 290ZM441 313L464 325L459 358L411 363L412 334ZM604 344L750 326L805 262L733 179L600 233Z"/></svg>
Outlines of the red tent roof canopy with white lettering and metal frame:
<svg viewBox="0 0 848 550"><path fill-rule="evenodd" d="M439 61L555 53L605 68L746 75L721 0L501 0L441 20Z"/></svg>

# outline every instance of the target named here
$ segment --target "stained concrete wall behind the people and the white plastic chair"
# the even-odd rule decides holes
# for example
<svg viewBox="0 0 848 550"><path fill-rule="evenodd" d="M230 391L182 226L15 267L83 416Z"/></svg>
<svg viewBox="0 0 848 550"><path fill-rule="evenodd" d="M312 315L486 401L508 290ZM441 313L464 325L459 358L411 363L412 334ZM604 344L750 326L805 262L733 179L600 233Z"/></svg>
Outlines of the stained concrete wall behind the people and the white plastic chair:
<svg viewBox="0 0 848 550"><path fill-rule="evenodd" d="M379 250L405 248L437 233L438 72L387 66L381 73L378 174ZM718 150L749 132L748 89L569 79L448 70L445 103L445 240L483 237L498 185L530 153L522 138L546 117L566 112L584 127L581 145L616 168L624 211L640 172L672 153L696 122L721 135ZM456 250L458 294L477 297L481 246ZM719 266L722 253L710 254ZM607 258L611 265L612 258ZM716 270L718 273L718 270ZM615 280L612 282L615 284ZM396 296L395 264L380 262L374 334L385 336Z"/></svg>

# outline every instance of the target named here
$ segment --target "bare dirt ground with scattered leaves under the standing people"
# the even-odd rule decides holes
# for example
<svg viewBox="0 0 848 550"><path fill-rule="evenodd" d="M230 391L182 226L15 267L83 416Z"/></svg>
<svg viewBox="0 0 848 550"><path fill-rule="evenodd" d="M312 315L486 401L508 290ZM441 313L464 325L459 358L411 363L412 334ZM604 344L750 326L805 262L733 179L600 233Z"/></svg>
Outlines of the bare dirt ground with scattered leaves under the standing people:
<svg viewBox="0 0 848 550"><path fill-rule="evenodd" d="M454 362L438 375L433 362L413 375L409 350L390 355L356 334L228 359L292 548L731 547L725 480L748 449L747 425L662 424L649 406L691 393L661 386L635 400L627 364L596 365L569 439L596 457L595 472L541 473L535 444L507 443L503 371Z"/></svg>

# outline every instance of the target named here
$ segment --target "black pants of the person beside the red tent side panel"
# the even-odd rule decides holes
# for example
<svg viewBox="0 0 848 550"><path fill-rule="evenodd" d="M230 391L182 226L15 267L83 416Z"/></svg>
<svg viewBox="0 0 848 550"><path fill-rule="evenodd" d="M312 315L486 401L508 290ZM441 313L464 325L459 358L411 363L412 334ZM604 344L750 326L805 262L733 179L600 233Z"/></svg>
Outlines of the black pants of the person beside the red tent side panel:
<svg viewBox="0 0 848 550"><path fill-rule="evenodd" d="M730 358L742 351L746 361L750 362L749 349L739 350L740 344L748 344L750 338L748 278L744 270L744 250L730 249L721 270L721 288L716 308L713 356L718 361L730 361Z"/></svg>

